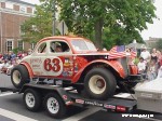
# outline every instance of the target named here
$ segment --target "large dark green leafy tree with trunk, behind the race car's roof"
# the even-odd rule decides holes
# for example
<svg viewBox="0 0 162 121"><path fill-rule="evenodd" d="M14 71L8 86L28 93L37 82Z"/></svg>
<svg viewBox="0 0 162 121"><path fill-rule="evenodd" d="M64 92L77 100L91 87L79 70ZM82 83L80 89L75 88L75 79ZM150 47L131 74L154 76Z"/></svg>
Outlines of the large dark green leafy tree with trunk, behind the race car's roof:
<svg viewBox="0 0 162 121"><path fill-rule="evenodd" d="M85 37L94 31L98 48L103 46L102 37L105 28L109 30L109 37L118 40L117 42L122 42L127 37L130 41L141 41L139 31L146 29L146 23L152 23L152 18L156 17L152 0L58 1L62 8L60 19L66 21L69 30ZM113 36L117 37L113 39Z"/></svg>

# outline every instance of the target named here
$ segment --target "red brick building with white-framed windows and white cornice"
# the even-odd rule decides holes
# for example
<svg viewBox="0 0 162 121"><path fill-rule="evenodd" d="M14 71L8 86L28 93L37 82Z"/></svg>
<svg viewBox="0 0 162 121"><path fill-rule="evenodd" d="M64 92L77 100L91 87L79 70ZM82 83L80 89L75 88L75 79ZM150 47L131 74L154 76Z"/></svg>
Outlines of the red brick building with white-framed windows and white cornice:
<svg viewBox="0 0 162 121"><path fill-rule="evenodd" d="M33 44L23 42L21 25L33 16L35 4L21 0L0 0L0 52L28 50Z"/></svg>

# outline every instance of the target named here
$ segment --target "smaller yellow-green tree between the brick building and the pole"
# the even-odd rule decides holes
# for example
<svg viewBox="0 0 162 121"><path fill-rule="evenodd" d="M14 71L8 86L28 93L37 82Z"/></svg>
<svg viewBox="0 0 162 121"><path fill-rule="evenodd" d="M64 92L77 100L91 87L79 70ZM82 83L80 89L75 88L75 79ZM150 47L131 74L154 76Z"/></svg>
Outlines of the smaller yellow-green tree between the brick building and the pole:
<svg viewBox="0 0 162 121"><path fill-rule="evenodd" d="M36 6L35 16L22 25L23 41L35 43L38 40L52 36L52 11L45 4Z"/></svg>

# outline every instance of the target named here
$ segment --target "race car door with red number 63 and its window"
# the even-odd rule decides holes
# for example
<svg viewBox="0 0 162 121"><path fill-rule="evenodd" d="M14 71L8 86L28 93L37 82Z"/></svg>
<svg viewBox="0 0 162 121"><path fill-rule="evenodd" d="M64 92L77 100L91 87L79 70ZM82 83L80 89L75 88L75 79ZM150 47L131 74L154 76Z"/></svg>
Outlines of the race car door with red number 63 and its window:
<svg viewBox="0 0 162 121"><path fill-rule="evenodd" d="M46 76L71 79L73 76L72 51L65 40L51 40L48 57L43 62Z"/></svg>

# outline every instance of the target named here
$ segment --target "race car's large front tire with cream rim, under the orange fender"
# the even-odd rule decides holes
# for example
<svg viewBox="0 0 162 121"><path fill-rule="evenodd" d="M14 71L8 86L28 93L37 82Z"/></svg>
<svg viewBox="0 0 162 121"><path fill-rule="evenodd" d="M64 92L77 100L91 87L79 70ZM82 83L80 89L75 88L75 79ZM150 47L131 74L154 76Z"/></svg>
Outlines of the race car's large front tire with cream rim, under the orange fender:
<svg viewBox="0 0 162 121"><path fill-rule="evenodd" d="M108 69L94 68L85 76L84 88L90 97L107 99L114 94L117 81Z"/></svg>

